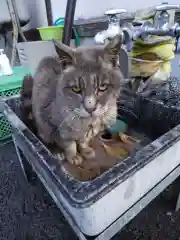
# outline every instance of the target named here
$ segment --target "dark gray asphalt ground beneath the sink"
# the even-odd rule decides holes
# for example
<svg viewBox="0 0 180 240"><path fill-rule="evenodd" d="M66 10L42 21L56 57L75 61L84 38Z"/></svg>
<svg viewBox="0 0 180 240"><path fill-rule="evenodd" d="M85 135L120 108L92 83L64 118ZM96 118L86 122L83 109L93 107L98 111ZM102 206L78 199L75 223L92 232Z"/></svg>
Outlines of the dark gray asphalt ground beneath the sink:
<svg viewBox="0 0 180 240"><path fill-rule="evenodd" d="M161 195L113 240L180 239L180 212L173 213L174 200ZM12 144L0 151L0 240L76 240L42 186L24 182Z"/></svg>

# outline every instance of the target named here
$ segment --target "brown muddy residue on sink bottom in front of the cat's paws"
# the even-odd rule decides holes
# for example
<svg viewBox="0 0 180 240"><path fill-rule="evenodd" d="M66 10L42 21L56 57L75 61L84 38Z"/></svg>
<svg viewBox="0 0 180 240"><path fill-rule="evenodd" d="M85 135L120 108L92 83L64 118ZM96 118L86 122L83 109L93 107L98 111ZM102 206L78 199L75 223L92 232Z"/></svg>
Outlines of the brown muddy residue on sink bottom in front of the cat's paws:
<svg viewBox="0 0 180 240"><path fill-rule="evenodd" d="M82 165L78 167L67 161L63 161L63 168L75 179L80 181L93 180L118 162L126 161L127 157L132 156L136 151L150 142L150 140L145 138L142 134L137 134L133 131L133 133L131 132L131 136L132 135L135 136L136 139L141 140L140 144L125 144L115 138L102 140L102 138L98 136L91 142L91 146L96 152L96 157L94 159L85 159ZM118 157L117 155L109 155L104 148L104 144L110 147L111 150L117 148L122 149L123 154L120 154ZM127 153L127 156L123 156L125 152Z"/></svg>

